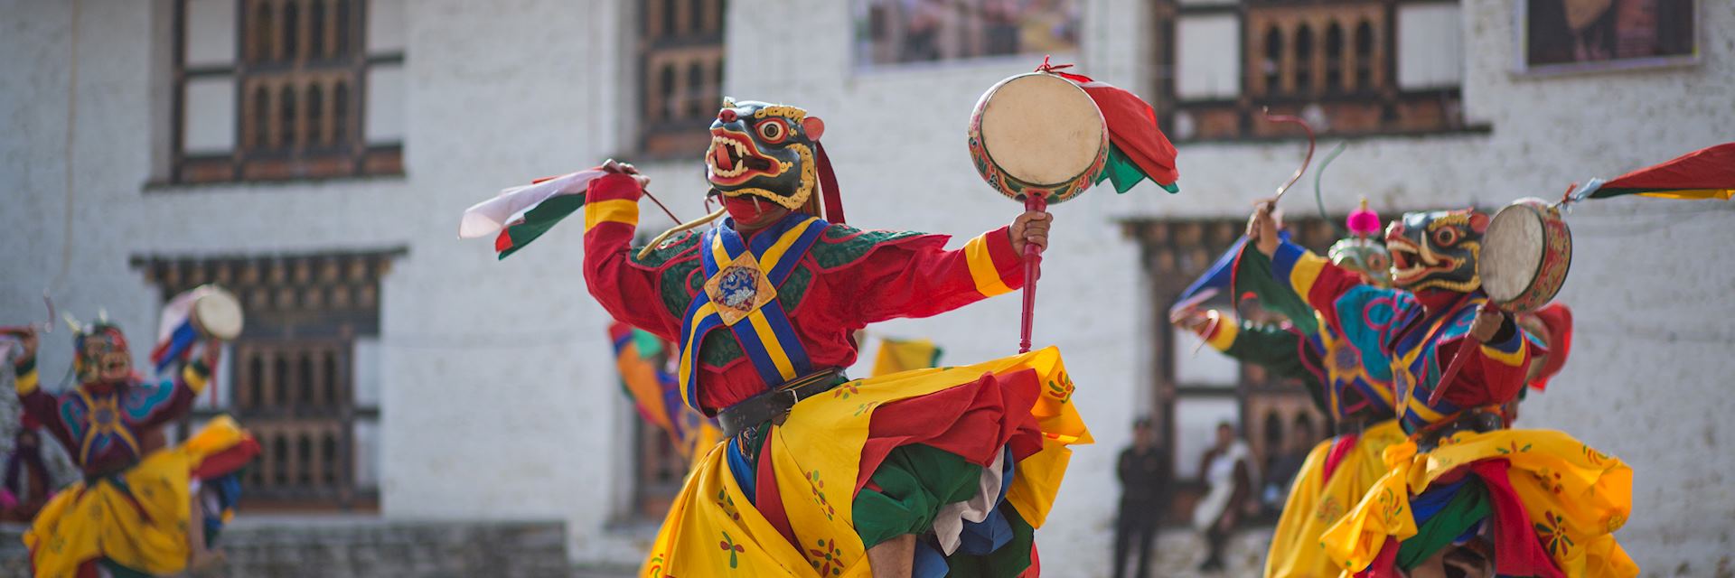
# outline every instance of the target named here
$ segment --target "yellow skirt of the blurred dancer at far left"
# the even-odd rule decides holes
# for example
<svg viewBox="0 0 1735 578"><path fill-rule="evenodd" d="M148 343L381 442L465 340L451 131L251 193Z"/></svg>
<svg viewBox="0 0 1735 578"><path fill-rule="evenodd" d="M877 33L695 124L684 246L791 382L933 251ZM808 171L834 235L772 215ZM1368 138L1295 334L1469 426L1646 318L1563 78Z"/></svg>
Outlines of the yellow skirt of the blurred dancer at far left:
<svg viewBox="0 0 1735 578"><path fill-rule="evenodd" d="M151 451L121 472L125 489L111 479L61 489L24 533L36 576L71 578L101 557L147 575L186 569L191 472L245 439L232 418L219 417L187 443Z"/></svg>

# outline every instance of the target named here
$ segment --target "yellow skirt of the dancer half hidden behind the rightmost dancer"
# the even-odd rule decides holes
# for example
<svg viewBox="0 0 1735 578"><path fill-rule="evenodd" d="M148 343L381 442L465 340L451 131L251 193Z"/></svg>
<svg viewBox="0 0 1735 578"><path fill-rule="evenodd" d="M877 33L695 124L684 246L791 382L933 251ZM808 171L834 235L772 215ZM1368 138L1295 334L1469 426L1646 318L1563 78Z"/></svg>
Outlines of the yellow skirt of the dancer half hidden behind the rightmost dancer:
<svg viewBox="0 0 1735 578"><path fill-rule="evenodd" d="M1404 427L1398 420L1385 420L1367 427L1355 443L1331 479L1326 477L1326 458L1331 453L1331 439L1313 446L1289 486L1289 500L1284 502L1284 514L1277 519L1277 531L1272 535L1272 550L1265 557L1267 578L1327 578L1336 576L1339 568L1319 536L1326 528L1338 522L1362 495L1386 472L1386 463L1379 458L1388 446L1404 443Z"/></svg>

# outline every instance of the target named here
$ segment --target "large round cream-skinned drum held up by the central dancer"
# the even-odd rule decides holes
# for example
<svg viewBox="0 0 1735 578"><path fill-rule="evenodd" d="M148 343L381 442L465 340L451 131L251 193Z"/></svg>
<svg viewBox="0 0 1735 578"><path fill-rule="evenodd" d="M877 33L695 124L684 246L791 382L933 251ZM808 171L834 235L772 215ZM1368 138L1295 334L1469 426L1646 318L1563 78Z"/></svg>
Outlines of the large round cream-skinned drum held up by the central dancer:
<svg viewBox="0 0 1735 578"><path fill-rule="evenodd" d="M984 130L985 128L985 130ZM1097 102L1070 80L1025 73L982 94L970 115L970 160L1012 200L1079 196L1109 161L1109 128Z"/></svg>

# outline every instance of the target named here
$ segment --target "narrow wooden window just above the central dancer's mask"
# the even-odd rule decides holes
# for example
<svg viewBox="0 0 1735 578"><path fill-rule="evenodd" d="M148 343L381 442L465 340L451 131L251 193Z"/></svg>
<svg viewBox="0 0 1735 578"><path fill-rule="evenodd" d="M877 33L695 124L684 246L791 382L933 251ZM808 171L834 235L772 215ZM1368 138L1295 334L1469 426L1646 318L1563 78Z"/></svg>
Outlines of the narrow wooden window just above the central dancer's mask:
<svg viewBox="0 0 1735 578"><path fill-rule="evenodd" d="M697 156L723 97L723 3L645 2L640 31L638 149L649 158Z"/></svg>

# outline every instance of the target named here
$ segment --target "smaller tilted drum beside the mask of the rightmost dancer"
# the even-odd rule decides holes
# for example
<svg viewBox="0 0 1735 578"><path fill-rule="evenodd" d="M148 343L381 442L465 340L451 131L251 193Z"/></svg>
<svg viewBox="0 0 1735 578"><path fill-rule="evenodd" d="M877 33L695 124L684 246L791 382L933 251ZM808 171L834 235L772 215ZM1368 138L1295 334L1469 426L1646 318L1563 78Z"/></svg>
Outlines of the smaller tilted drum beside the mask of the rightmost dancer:
<svg viewBox="0 0 1735 578"><path fill-rule="evenodd" d="M1567 283L1572 267L1572 231L1560 210L1539 198L1522 198L1501 208L1482 236L1478 262L1482 290L1504 311L1525 312L1546 305Z"/></svg>

